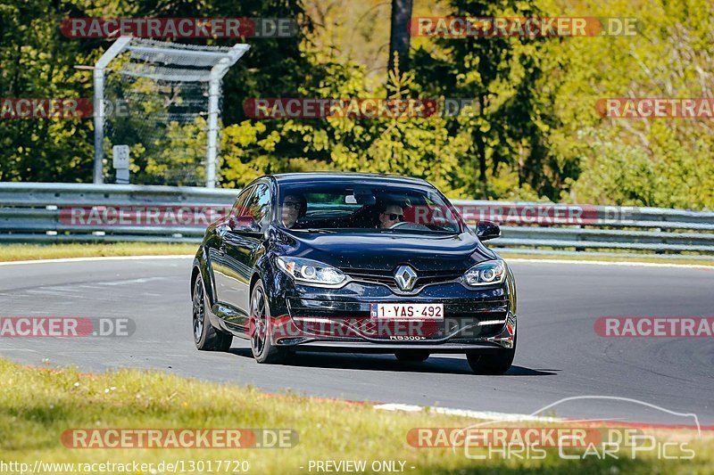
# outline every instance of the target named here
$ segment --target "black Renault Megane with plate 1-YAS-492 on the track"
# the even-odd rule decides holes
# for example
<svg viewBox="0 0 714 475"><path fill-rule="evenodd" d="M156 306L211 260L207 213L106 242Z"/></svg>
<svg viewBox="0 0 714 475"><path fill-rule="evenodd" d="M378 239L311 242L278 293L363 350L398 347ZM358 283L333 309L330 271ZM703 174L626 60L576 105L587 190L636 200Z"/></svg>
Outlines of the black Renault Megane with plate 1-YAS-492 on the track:
<svg viewBox="0 0 714 475"><path fill-rule="evenodd" d="M259 363L295 351L466 354L505 373L516 351L516 287L428 182L402 176L262 176L210 225L191 274L199 349L250 340Z"/></svg>

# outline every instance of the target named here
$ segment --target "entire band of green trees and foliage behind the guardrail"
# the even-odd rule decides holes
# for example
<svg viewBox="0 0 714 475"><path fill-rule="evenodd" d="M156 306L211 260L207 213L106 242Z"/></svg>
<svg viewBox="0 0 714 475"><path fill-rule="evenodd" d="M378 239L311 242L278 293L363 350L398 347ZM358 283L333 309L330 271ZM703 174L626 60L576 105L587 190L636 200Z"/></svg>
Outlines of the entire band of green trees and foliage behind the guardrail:
<svg viewBox="0 0 714 475"><path fill-rule="evenodd" d="M417 16L635 17L641 29L635 37L413 37L411 69L389 76L389 5L330 5L5 0L0 97L91 97L91 72L74 66L93 64L110 42L62 37L59 21L68 16L295 18L297 37L247 39L251 50L224 79L223 186L265 173L347 170L420 176L453 197L714 209L710 119L602 119L594 107L606 97L714 97L710 0L417 0ZM245 116L246 99L270 97L461 98L477 106L419 119ZM132 120L128 130L138 125ZM91 180L90 119L1 126L0 180ZM181 183L176 170L187 167L203 176L203 130L198 120L166 124L156 143L135 137L133 181Z"/></svg>

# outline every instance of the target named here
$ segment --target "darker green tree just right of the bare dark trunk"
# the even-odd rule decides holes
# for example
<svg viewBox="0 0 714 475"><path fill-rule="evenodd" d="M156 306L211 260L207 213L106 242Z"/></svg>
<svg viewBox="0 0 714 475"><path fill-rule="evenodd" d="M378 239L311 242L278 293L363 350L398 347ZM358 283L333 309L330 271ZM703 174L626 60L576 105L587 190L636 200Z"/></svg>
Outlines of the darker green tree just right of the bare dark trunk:
<svg viewBox="0 0 714 475"><path fill-rule="evenodd" d="M527 1L452 0L450 5L455 17L538 14L535 4ZM433 45L415 53L417 80L431 94L475 102L474 113L454 118L451 124L454 132L467 130L470 135L461 178L473 196L498 197L508 190L494 189L489 177L499 176L502 168L515 168L519 160L532 162L537 157L532 152L541 132L535 121L543 122L546 114L535 101L535 80L541 72L537 44L527 37L469 36L439 38ZM519 181L525 179L520 167Z"/></svg>

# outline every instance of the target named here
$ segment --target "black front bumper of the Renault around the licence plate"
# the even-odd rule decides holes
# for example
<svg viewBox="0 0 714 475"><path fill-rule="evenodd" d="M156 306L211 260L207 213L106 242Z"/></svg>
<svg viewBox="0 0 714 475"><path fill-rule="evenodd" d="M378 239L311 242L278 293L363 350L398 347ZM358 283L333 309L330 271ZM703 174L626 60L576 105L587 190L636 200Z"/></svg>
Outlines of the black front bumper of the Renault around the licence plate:
<svg viewBox="0 0 714 475"><path fill-rule="evenodd" d="M507 284L475 291L444 283L404 296L373 283L349 283L342 289L295 286L276 299L271 340L278 347L372 353L513 348L517 318L508 290ZM379 320L370 315L372 303L443 304L444 319Z"/></svg>

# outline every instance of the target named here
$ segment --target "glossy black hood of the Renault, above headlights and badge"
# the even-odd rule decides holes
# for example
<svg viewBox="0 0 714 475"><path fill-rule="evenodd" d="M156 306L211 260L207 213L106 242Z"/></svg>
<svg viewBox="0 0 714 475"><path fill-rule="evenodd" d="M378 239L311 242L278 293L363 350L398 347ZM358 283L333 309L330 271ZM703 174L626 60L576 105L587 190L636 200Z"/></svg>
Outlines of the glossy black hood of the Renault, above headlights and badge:
<svg viewBox="0 0 714 475"><path fill-rule="evenodd" d="M392 271L411 264L419 271L463 271L497 256L472 233L300 233L280 232L286 255L330 266Z"/></svg>

